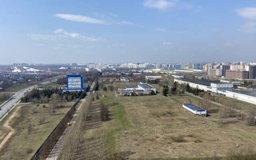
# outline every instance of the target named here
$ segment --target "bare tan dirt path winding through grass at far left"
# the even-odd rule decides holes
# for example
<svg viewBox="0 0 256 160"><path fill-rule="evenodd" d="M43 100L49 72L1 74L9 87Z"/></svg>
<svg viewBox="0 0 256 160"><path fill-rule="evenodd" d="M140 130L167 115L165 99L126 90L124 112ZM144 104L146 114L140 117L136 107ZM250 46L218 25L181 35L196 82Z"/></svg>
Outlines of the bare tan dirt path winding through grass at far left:
<svg viewBox="0 0 256 160"><path fill-rule="evenodd" d="M11 127L11 123L12 123L12 118L13 117L17 117L18 116L18 110L20 109L21 106L19 106L17 108L17 110L15 112L12 113L12 115L10 116L10 118L8 120L6 120L6 122L4 123L4 128L7 128L7 130L11 130L8 135L4 138L4 140L0 143L0 150L2 149L2 147L4 146L4 144L6 144L6 142L9 140L9 138L16 132L12 127ZM8 132L8 131L7 131Z"/></svg>

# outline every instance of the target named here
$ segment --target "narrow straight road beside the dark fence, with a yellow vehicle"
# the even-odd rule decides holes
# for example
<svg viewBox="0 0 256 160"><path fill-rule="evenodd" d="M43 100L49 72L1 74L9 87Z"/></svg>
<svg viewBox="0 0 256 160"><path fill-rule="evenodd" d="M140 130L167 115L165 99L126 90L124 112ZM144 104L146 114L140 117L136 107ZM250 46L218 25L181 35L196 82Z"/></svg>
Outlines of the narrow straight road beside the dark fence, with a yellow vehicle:
<svg viewBox="0 0 256 160"><path fill-rule="evenodd" d="M92 88L94 87L95 82L92 83L92 86L90 88L90 92L92 91ZM87 96L90 94L90 92L88 92ZM86 98L84 98L82 100L82 103L84 103L84 101L86 101ZM82 105L82 103L80 104L80 106ZM48 158L46 160L56 160L62 150L62 144L64 143L64 136L68 133L69 130L72 129L72 127L74 126L74 124L76 123L76 116L80 110L80 106L78 107L78 109L76 110L76 113L74 114L73 118L70 121L71 126L67 127L64 132L62 133L62 135L60 136L60 139L58 140L58 142L55 144L54 148L52 149L52 152L50 153L50 155L48 156Z"/></svg>

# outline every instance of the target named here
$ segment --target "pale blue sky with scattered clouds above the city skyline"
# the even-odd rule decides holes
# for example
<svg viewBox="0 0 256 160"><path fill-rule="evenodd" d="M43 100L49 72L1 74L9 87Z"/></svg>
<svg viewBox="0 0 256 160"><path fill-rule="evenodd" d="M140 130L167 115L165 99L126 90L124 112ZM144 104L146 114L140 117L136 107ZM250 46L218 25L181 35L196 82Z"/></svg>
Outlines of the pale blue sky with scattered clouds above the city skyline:
<svg viewBox="0 0 256 160"><path fill-rule="evenodd" d="M256 61L256 0L1 0L0 64Z"/></svg>

